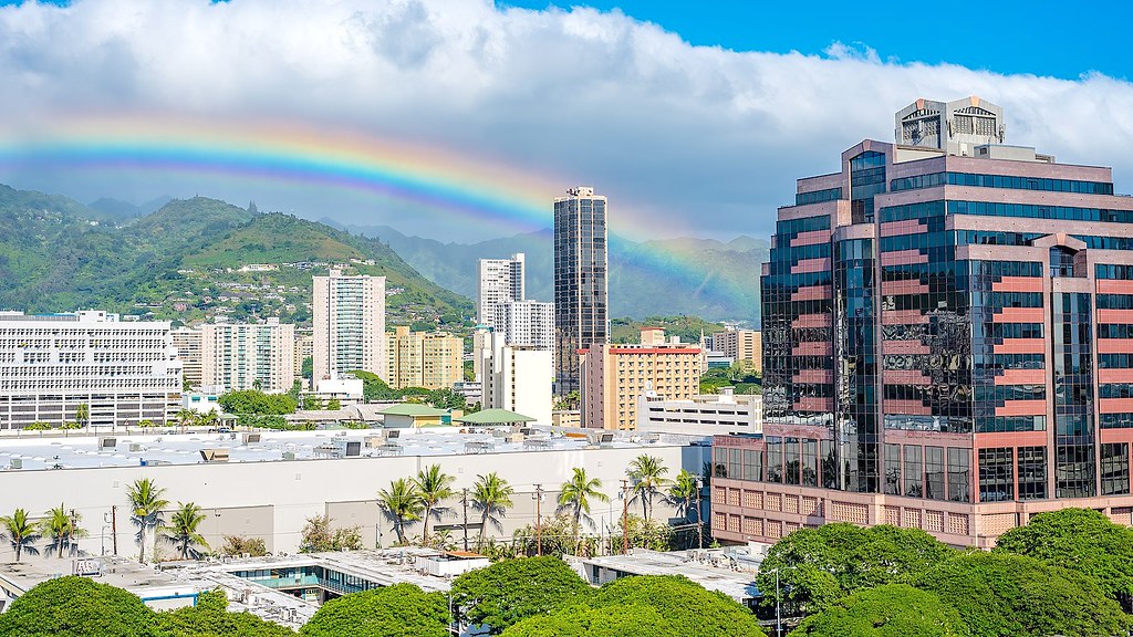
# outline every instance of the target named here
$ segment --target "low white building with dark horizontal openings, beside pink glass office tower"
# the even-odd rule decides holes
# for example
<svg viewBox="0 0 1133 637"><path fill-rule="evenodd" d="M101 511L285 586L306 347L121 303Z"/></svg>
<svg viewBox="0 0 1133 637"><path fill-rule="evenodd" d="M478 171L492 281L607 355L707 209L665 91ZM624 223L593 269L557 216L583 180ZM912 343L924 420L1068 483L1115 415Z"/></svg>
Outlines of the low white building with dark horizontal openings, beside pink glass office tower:
<svg viewBox="0 0 1133 637"><path fill-rule="evenodd" d="M733 435L764 431L764 399L758 393L736 396L732 388L718 394L693 396L687 400L641 394L638 399L638 431Z"/></svg>

